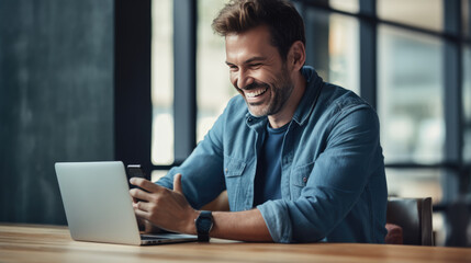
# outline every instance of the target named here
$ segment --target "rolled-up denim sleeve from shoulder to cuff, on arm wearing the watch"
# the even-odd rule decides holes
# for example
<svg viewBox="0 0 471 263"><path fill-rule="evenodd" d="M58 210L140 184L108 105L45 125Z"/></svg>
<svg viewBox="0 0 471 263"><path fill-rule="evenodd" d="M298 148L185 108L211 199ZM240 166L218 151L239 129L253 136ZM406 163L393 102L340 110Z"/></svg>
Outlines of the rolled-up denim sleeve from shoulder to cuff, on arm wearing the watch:
<svg viewBox="0 0 471 263"><path fill-rule="evenodd" d="M276 242L323 240L351 211L369 178L381 165L379 121L367 105L344 108L332 118L326 147L298 199L269 201L257 208ZM305 147L305 146L304 146ZM362 215L370 220L370 215Z"/></svg>

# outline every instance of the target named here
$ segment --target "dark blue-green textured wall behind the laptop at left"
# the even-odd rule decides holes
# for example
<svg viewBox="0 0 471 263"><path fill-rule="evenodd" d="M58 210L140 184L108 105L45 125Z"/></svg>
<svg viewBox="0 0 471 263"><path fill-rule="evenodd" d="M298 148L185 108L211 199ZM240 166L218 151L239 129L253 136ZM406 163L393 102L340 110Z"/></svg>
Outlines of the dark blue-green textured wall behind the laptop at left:
<svg viewBox="0 0 471 263"><path fill-rule="evenodd" d="M112 160L113 1L0 0L0 221L66 224L56 161Z"/></svg>

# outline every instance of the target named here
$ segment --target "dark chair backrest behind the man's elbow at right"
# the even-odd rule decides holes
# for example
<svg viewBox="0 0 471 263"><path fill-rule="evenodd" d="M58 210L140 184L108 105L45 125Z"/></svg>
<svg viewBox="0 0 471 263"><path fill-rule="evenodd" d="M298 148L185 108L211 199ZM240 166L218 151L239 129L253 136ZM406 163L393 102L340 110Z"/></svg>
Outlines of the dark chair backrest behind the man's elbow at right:
<svg viewBox="0 0 471 263"><path fill-rule="evenodd" d="M404 244L434 245L430 197L390 197L386 222L402 228Z"/></svg>

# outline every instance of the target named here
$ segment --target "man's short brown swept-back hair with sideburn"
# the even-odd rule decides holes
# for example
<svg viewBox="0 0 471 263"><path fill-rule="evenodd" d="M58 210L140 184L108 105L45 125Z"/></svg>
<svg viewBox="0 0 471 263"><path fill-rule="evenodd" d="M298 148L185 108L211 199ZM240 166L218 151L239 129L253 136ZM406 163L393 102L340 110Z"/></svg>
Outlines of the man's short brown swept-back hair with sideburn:
<svg viewBox="0 0 471 263"><path fill-rule="evenodd" d="M305 45L304 22L287 0L231 0L213 20L213 30L222 35L239 34L259 25L268 25L271 45L283 60L291 45Z"/></svg>

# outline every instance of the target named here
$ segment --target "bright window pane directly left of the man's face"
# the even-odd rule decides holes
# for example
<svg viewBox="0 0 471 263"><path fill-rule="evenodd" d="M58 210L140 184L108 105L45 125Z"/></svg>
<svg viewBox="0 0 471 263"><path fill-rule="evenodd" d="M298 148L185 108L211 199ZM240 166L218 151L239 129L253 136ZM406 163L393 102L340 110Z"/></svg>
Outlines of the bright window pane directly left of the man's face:
<svg viewBox="0 0 471 263"><path fill-rule="evenodd" d="M224 37L214 34L213 19L225 1L198 1L198 50L197 50L197 141L221 115L228 100L237 92L229 82Z"/></svg>

